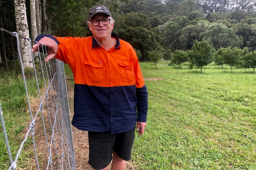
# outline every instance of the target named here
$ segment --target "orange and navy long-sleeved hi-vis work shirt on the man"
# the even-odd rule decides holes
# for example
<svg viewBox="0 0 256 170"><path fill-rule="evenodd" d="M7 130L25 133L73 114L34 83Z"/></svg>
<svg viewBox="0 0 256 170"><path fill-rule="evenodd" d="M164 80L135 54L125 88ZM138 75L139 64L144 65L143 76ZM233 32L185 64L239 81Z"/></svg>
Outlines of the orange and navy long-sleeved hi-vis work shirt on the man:
<svg viewBox="0 0 256 170"><path fill-rule="evenodd" d="M114 33L116 45L108 51L93 37L44 36L59 43L56 59L74 74L74 116L80 130L121 133L136 122L146 122L148 92L135 50ZM55 39L56 38L56 39Z"/></svg>

